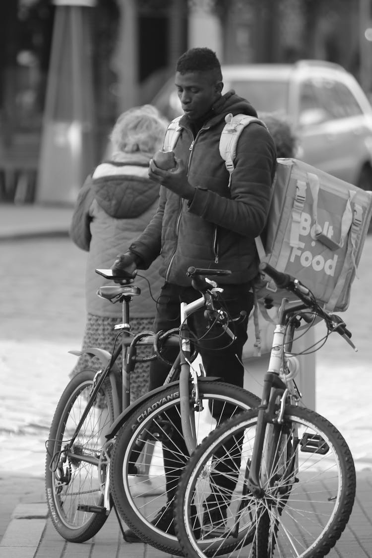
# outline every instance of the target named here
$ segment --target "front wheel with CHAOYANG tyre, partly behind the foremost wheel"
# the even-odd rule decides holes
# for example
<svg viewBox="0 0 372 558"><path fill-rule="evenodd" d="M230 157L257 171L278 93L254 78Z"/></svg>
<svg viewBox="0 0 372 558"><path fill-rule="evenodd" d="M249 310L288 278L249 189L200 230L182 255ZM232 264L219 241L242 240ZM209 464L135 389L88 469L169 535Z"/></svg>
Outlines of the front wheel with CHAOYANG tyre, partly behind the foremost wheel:
<svg viewBox="0 0 372 558"><path fill-rule="evenodd" d="M198 443L221 421L259 405L258 397L230 384L200 382L199 390L200 404L194 408ZM149 446L152 487L138 470ZM132 413L118 433L110 461L110 489L120 515L143 541L170 554L182 554L173 526L173 497L188 458L181 434L180 393L173 385ZM160 508L164 513L157 522Z"/></svg>

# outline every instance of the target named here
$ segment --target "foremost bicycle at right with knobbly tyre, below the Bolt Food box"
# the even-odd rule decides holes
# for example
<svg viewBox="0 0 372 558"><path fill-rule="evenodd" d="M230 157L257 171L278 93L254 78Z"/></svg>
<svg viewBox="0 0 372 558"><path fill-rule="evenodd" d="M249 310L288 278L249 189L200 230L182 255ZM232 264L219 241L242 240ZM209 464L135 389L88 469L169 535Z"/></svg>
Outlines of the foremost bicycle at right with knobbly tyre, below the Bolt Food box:
<svg viewBox="0 0 372 558"><path fill-rule="evenodd" d="M327 419L299 406L292 354L303 321L324 320L324 343L336 331L356 350L351 333L298 280L268 264L260 270L299 300L282 300L259 407L211 432L185 466L175 521L186 556L319 558L340 538L354 504L350 449Z"/></svg>

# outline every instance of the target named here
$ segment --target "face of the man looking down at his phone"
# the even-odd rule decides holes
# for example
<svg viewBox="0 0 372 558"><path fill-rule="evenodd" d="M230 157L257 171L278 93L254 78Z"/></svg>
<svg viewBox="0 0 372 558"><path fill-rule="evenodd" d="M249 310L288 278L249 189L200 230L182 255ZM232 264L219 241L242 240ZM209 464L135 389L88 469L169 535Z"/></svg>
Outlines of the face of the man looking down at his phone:
<svg viewBox="0 0 372 558"><path fill-rule="evenodd" d="M215 82L210 72L176 72L175 85L182 110L191 120L197 120L211 109L220 97L223 84Z"/></svg>

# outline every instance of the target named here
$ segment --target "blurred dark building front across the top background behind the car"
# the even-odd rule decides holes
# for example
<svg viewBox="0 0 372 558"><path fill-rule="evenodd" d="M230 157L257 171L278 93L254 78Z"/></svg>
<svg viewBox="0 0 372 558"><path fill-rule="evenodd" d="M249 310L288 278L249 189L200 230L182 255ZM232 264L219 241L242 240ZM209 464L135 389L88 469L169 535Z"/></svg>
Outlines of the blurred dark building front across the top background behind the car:
<svg viewBox="0 0 372 558"><path fill-rule="evenodd" d="M0 201L72 203L115 118L151 102L189 47L338 62L369 91L368 28L372 0L1 2Z"/></svg>

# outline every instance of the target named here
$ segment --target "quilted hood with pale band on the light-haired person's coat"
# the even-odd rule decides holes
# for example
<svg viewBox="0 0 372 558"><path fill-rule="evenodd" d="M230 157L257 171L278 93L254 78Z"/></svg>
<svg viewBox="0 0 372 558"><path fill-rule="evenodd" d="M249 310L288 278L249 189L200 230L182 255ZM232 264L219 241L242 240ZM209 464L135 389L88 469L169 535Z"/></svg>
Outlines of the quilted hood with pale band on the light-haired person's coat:
<svg viewBox="0 0 372 558"><path fill-rule="evenodd" d="M92 188L97 203L117 219L139 217L159 196L158 184L148 178L148 163L102 163L93 173Z"/></svg>

